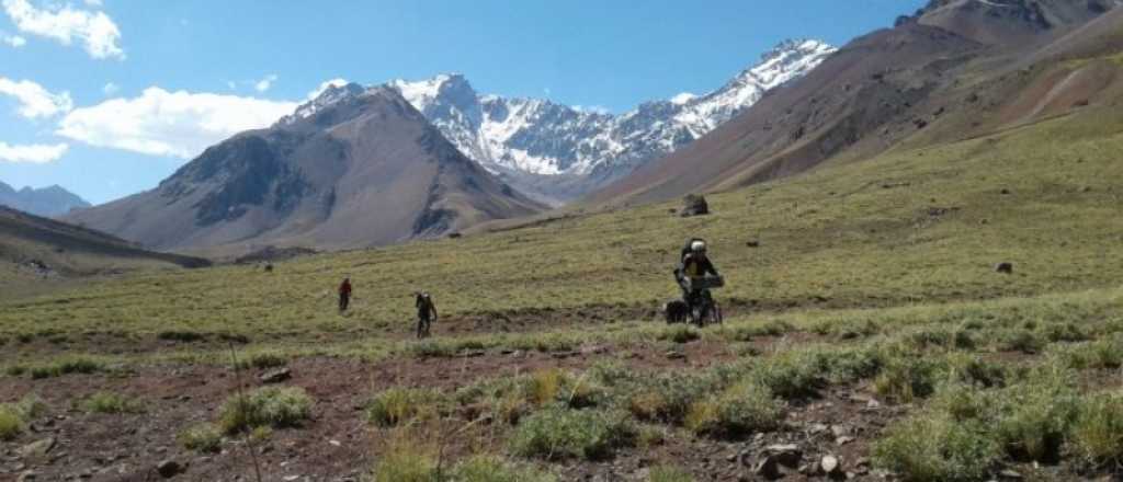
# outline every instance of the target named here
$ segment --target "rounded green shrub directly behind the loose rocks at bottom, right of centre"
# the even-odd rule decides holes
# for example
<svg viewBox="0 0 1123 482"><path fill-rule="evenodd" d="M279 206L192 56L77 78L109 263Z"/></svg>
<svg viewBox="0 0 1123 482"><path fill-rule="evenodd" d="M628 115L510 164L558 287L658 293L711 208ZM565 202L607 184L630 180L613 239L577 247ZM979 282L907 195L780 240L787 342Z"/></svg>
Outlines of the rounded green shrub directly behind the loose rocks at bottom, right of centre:
<svg viewBox="0 0 1123 482"><path fill-rule="evenodd" d="M767 388L741 382L718 397L693 404L685 426L695 434L732 438L774 429L782 415Z"/></svg>

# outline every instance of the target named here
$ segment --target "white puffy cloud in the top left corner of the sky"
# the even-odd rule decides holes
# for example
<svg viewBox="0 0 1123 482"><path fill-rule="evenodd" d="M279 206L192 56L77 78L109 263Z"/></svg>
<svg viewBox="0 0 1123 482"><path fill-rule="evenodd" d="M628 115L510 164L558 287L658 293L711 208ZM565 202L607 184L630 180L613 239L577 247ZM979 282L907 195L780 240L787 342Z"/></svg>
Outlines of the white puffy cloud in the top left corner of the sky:
<svg viewBox="0 0 1123 482"><path fill-rule="evenodd" d="M3 9L21 33L53 38L63 45L77 39L93 58L125 59L125 50L118 46L121 30L104 12L69 4L38 9L28 0L3 0Z"/></svg>

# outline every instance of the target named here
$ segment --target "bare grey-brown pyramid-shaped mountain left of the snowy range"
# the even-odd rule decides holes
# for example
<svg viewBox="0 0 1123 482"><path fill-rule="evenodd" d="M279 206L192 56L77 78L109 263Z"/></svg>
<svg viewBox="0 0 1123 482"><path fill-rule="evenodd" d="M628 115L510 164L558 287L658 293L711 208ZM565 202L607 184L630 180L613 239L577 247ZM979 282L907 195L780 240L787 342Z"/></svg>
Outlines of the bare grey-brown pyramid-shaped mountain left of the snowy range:
<svg viewBox="0 0 1123 482"><path fill-rule="evenodd" d="M156 249L227 254L387 244L539 208L398 91L351 84L208 148L153 191L66 219Z"/></svg>

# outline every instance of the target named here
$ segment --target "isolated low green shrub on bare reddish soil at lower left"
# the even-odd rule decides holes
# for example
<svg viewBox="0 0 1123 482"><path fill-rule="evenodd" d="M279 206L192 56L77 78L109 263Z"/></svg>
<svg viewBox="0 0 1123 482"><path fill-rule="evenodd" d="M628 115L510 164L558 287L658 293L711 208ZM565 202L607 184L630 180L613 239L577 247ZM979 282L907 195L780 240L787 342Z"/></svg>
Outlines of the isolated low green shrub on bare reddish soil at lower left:
<svg viewBox="0 0 1123 482"><path fill-rule="evenodd" d="M299 426L311 417L312 398L299 387L264 387L245 395L235 395L222 404L219 427L226 434L256 427Z"/></svg>

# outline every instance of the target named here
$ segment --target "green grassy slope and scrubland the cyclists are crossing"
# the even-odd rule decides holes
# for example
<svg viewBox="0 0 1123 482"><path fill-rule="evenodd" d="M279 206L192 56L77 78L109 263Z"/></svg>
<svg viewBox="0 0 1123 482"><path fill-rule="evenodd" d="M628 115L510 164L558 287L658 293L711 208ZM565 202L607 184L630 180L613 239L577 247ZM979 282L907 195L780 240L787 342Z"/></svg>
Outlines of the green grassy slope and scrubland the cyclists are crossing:
<svg viewBox="0 0 1123 482"><path fill-rule="evenodd" d="M35 378L33 388L49 390L58 377L221 367L217 341L229 339L248 340L239 349L247 367L330 359L372 373L431 360L451 370L475 351L608 346L583 359L587 367L536 362L519 377L481 371L422 392L409 381L369 382L364 397L375 402L348 415L382 420L368 421L384 443L364 473L433 480L444 473L447 437L438 435L451 430L462 442L446 469L462 478L569 480L573 460L603 467L650 451L664 465L648 480L692 480L709 469L693 456L676 460L676 447L727 449L733 445L721 444L758 432L783 438L792 424L822 416L809 398L842 406L858 392L892 415L877 415L888 428L869 425L848 448L856 451L848 467L861 456L916 481L987 480L1005 466L1042 480L1102 475L1123 460L1123 439L1098 428L1123 425L1119 126L1117 110L1088 109L891 151L709 196L709 216L650 205L300 258L272 272L139 272L6 299L7 382ZM676 295L670 270L694 235L711 243L728 285L718 298L733 316L701 331L667 327L652 314ZM1012 275L995 271L1003 261ZM344 276L357 299L340 315L335 287ZM433 294L444 318L426 342L409 339L418 289ZM705 363L690 370L632 356L691 346ZM301 414L323 409L309 405L301 399ZM10 426L26 421L9 411ZM850 415L866 417L858 414ZM483 428L480 417L506 421ZM217 429L191 418L177 428L207 437L183 435L188 445L220 443ZM311 428L274 436L332 419L313 418ZM1060 469L1032 465L1053 456L1066 461Z"/></svg>

